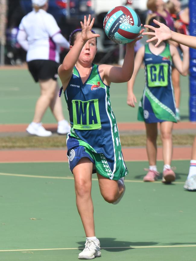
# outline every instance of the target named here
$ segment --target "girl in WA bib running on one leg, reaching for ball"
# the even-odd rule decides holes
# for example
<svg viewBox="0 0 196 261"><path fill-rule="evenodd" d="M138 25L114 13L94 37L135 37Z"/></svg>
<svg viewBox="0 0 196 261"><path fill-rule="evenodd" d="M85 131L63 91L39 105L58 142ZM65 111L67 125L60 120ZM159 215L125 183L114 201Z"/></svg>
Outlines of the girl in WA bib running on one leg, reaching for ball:
<svg viewBox="0 0 196 261"><path fill-rule="evenodd" d="M111 82L126 82L134 68L134 43L126 45L122 67L92 64L96 54L96 37L91 21L84 17L81 30L70 36L70 51L58 68L68 105L71 133L67 148L69 167L74 175L76 204L86 233L84 250L79 259L101 256L95 236L92 173L96 172L103 198L117 204L125 192L128 171L123 160L118 127L109 98ZM140 33L142 33L141 30Z"/></svg>

